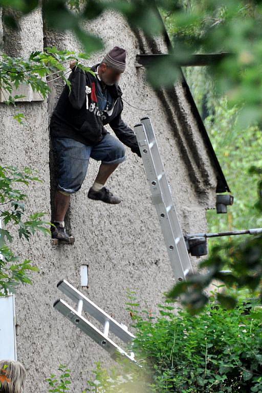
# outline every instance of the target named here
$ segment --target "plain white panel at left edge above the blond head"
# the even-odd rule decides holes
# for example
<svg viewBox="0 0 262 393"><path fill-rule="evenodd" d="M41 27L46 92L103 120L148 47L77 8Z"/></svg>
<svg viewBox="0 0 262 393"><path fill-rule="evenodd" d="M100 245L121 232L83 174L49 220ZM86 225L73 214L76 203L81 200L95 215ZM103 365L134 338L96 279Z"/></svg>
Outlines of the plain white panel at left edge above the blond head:
<svg viewBox="0 0 262 393"><path fill-rule="evenodd" d="M14 295L0 297L0 359L16 360Z"/></svg>

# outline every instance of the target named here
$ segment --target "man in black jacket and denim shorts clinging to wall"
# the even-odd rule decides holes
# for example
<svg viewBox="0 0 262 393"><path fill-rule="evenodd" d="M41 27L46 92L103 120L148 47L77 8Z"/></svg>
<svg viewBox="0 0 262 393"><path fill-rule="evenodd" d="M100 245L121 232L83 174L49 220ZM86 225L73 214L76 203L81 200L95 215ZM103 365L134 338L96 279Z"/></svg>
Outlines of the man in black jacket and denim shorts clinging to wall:
<svg viewBox="0 0 262 393"><path fill-rule="evenodd" d="M114 47L100 63L91 67L95 76L70 63L71 91L65 84L50 121L50 137L58 167L54 200L52 238L69 242L64 216L70 195L84 181L90 157L101 161L88 198L118 204L120 198L104 186L120 163L125 161L124 145L141 157L134 131L121 119L122 91L118 85L126 66L126 51ZM104 127L109 124L117 138Z"/></svg>

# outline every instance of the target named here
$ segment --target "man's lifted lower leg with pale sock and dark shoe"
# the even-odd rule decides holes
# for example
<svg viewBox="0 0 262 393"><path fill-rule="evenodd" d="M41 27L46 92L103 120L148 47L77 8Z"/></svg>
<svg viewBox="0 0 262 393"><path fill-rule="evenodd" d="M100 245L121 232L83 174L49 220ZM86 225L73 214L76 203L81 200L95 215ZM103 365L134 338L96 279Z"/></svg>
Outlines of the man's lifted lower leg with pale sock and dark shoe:
<svg viewBox="0 0 262 393"><path fill-rule="evenodd" d="M110 177L110 175L114 172L118 165L119 163L101 163L94 184L89 190L88 198L112 204L117 204L121 202L120 198L116 197L112 194L112 192L108 191L108 189L103 187L106 180Z"/></svg>

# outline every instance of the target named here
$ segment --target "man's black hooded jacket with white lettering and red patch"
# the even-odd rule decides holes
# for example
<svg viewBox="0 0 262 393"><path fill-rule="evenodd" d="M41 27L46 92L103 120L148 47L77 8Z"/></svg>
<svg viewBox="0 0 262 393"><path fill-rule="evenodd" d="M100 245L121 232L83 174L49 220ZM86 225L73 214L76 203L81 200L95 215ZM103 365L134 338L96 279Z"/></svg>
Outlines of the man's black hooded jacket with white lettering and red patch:
<svg viewBox="0 0 262 393"><path fill-rule="evenodd" d="M99 64L93 65L91 70L95 71ZM113 98L112 108L99 111L97 84L100 82L97 77L75 65L68 80L71 82L71 92L65 84L51 116L50 136L95 145L108 134L104 125L109 124L117 138L141 157L134 131L121 119L123 101L118 83L106 86Z"/></svg>

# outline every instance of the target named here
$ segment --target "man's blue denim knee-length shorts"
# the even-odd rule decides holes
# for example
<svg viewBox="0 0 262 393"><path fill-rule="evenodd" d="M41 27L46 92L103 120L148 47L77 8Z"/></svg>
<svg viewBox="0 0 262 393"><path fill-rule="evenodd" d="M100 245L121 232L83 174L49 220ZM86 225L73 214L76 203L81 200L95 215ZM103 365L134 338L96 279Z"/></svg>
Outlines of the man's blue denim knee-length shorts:
<svg viewBox="0 0 262 393"><path fill-rule="evenodd" d="M70 194L81 188L90 157L103 164L120 164L126 160L123 143L109 133L93 146L71 138L51 139L58 170L57 189Z"/></svg>

